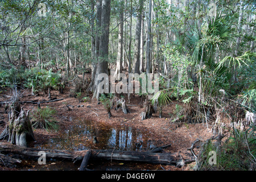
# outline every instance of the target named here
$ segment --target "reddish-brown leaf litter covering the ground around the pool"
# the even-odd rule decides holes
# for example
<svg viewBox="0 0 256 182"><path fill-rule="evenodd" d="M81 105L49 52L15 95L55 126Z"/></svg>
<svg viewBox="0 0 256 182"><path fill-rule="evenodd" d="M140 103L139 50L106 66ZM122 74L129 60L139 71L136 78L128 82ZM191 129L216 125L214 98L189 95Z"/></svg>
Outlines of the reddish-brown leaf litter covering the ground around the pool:
<svg viewBox="0 0 256 182"><path fill-rule="evenodd" d="M112 117L108 118L108 113L104 109L102 104L98 104L96 99L89 100L86 102L79 102L75 97L69 97L69 90L71 87L65 87L64 93L59 94L58 91L52 91L52 97L57 99L63 98L63 100L57 102L41 102L41 107L52 107L57 111L56 120L60 127L60 130L67 129L68 126L72 125L75 119L88 119L97 123L107 123L115 127L130 126L143 130L143 133L147 133L150 140L154 140L157 146L164 146L171 144L170 147L164 148L163 152L179 152L185 151L191 147L193 141L197 138L208 139L212 137L212 133L207 129L207 126L203 126L202 123L183 123L183 122L172 122L170 114L175 112L175 105L179 104L183 106L183 103L173 101L173 104L164 107L162 118L159 118L158 113L152 114L151 118L141 120L141 112L143 110L143 99L139 96L131 96L130 103L127 104L130 113L123 113L122 110L112 109ZM5 101L6 98L2 97L10 95L10 90L6 90L0 95L0 101ZM32 96L30 90L22 90L23 96L20 101L34 101L34 100L47 100L47 94L39 93L39 96ZM90 96L91 98L91 96ZM68 109L68 105L72 105L71 109ZM76 107L77 105L84 105L84 107ZM25 111L37 109L37 105L31 103L23 103L22 107ZM4 106L0 107L0 133L5 129L6 122L8 121L8 114L5 113ZM56 137L59 133L57 131L46 131L43 129L34 129L35 142L32 142L32 146L40 146L47 142L49 139ZM2 141L1 141L2 142ZM97 144L94 144L96 146ZM195 147L195 150L198 148ZM198 151L199 152L199 149ZM195 164L188 164L181 168L174 166L162 166L167 170L192 170ZM0 167L1 168L1 167ZM3 168L2 168L3 169ZM18 169L18 168L17 168Z"/></svg>

